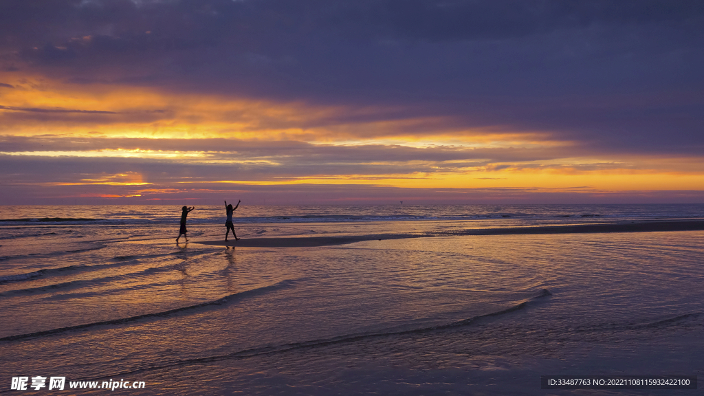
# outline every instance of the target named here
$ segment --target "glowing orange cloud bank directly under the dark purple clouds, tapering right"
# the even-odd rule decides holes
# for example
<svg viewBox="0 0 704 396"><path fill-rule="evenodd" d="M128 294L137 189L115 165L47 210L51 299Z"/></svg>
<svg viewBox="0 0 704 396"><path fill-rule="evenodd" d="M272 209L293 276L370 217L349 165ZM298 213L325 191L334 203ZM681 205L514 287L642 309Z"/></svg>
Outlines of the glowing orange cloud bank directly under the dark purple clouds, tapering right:
<svg viewBox="0 0 704 396"><path fill-rule="evenodd" d="M77 86L38 77L10 81L15 89L0 91L0 121L15 136L227 137L410 147L562 144L546 132L460 127L451 117L418 116L398 106L313 106L156 88Z"/></svg>

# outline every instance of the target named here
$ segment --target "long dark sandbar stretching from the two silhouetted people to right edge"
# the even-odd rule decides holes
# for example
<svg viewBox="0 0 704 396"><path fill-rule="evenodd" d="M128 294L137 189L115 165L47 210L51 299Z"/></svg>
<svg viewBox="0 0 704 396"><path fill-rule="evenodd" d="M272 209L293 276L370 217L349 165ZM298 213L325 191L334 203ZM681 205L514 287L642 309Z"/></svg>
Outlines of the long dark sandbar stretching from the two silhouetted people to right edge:
<svg viewBox="0 0 704 396"><path fill-rule="evenodd" d="M532 227L484 228L460 230L439 234L377 234L313 237L261 237L253 239L191 241L201 245L225 247L319 247L347 245L370 240L398 240L439 236L489 236L489 235L537 235L537 234L586 234L586 233L652 233L667 231L702 231L704 220L681 221L629 221L620 223L597 223L578 225L536 225Z"/></svg>

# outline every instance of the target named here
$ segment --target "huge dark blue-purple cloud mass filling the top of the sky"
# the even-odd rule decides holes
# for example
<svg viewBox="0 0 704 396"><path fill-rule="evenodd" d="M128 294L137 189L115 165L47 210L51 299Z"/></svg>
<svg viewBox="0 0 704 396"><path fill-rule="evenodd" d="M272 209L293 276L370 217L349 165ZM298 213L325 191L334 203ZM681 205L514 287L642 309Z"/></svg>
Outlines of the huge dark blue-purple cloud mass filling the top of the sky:
<svg viewBox="0 0 704 396"><path fill-rule="evenodd" d="M391 120L594 151L704 148L701 1L12 0L0 49L4 68L67 82L396 106Z"/></svg>

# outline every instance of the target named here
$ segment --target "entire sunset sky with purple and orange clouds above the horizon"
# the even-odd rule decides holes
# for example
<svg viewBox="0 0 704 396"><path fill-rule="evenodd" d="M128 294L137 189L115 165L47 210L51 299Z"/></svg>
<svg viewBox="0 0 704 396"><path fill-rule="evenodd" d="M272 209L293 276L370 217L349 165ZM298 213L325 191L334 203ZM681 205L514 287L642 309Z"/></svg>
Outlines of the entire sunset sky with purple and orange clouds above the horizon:
<svg viewBox="0 0 704 396"><path fill-rule="evenodd" d="M704 202L704 2L0 1L0 204Z"/></svg>

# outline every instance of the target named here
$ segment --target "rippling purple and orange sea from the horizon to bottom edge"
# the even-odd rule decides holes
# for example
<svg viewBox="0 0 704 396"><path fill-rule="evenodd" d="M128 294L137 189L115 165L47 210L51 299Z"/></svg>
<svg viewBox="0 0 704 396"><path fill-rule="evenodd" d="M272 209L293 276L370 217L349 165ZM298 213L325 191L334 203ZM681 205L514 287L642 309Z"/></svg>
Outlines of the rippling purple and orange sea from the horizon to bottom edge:
<svg viewBox="0 0 704 396"><path fill-rule="evenodd" d="M0 208L0 393L700 394L704 204Z"/></svg>

